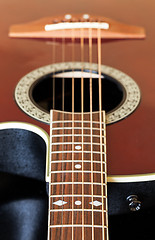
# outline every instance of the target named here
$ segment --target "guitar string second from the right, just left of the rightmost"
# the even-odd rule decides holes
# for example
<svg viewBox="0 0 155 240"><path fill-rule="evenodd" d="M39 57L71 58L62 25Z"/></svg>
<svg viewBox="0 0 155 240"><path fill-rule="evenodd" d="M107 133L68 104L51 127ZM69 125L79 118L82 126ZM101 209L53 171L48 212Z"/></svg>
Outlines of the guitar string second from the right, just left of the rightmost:
<svg viewBox="0 0 155 240"><path fill-rule="evenodd" d="M90 64L90 80L89 80L89 94L90 94L90 124L91 124L91 193L92 193L92 240L94 240L94 205L93 205L93 195L94 195L94 186L93 186L93 133L92 133L92 121L93 121L93 103L92 103L92 29L89 29L89 64Z"/></svg>

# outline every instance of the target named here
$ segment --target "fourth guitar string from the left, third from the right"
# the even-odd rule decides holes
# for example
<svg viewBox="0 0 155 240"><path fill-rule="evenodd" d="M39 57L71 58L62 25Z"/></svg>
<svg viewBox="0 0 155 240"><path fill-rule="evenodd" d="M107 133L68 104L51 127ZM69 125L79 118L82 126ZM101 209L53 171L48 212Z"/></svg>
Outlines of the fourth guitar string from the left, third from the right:
<svg viewBox="0 0 155 240"><path fill-rule="evenodd" d="M83 79L83 62L84 62L84 35L81 28L81 62L82 62L82 76L81 76L81 120L82 120L82 239L84 240L84 156L83 156L83 112L84 112L84 79Z"/></svg>

